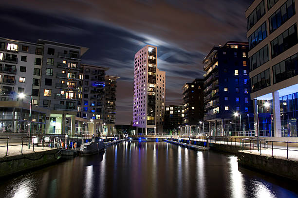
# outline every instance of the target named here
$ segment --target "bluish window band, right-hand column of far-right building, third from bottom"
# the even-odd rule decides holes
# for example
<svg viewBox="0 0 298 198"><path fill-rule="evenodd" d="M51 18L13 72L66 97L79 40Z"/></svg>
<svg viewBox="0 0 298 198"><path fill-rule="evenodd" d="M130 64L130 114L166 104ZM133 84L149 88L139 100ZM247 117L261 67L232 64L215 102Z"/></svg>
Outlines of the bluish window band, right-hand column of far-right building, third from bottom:
<svg viewBox="0 0 298 198"><path fill-rule="evenodd" d="M270 33L273 33L293 15L295 15L295 2L294 0L287 0L275 13L269 17Z"/></svg>

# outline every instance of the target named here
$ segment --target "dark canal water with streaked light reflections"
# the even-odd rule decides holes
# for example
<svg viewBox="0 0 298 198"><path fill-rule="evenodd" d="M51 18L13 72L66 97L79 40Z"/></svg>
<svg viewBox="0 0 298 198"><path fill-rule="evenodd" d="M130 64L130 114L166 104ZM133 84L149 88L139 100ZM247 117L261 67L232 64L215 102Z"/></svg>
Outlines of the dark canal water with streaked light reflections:
<svg viewBox="0 0 298 198"><path fill-rule="evenodd" d="M298 186L240 168L234 155L138 141L0 183L0 198L101 197L294 198Z"/></svg>

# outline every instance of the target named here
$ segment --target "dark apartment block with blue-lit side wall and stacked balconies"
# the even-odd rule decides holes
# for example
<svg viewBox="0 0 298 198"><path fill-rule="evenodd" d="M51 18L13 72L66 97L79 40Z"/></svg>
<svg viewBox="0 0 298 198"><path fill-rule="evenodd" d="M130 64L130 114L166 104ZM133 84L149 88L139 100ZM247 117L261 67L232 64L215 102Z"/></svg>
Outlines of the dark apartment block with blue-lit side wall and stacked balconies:
<svg viewBox="0 0 298 198"><path fill-rule="evenodd" d="M247 42L227 42L213 47L204 61L204 105L211 135L238 135L252 131ZM235 113L238 116L235 116ZM240 124L241 115L241 124ZM241 127L241 128L240 128ZM204 130L205 131L205 130Z"/></svg>

